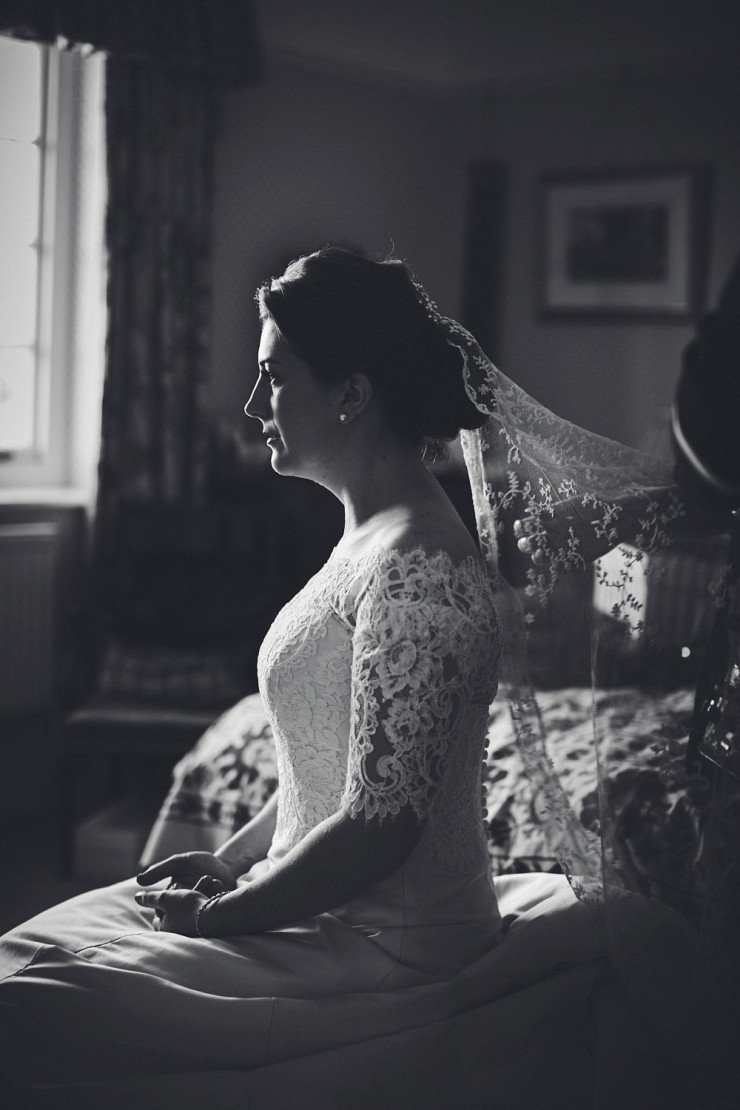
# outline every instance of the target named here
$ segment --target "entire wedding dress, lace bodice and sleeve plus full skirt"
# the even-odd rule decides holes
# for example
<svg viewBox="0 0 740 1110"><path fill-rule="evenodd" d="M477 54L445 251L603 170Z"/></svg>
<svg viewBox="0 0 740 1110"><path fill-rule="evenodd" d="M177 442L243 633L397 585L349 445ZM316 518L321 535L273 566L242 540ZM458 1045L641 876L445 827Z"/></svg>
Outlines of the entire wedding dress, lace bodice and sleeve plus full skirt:
<svg viewBox="0 0 740 1110"><path fill-rule="evenodd" d="M531 1110L627 1104L604 1092L631 1043L645 1092L652 1041L626 1017L597 910L561 876L490 876L480 775L499 649L476 557L335 551L261 652L280 804L253 871L338 809L377 821L412 806L415 849L346 905L260 936L158 932L133 880L41 914L0 942L6 1067L59 1104L70 1083L77 1106Z"/></svg>

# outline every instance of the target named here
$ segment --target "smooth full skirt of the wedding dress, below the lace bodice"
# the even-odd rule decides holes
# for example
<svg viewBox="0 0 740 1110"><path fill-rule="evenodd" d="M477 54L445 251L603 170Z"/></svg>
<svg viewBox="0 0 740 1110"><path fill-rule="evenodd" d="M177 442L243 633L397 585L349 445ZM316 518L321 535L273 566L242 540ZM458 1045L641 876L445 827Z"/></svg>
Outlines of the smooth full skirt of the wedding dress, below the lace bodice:
<svg viewBox="0 0 740 1110"><path fill-rule="evenodd" d="M652 1012L639 1012L600 912L560 876L497 879L511 924L449 979L327 914L264 936L159 932L135 889L90 891L4 938L3 1069L29 1106L720 1106L696 1101L690 1030L671 1017L686 1013L683 938L657 935Z"/></svg>

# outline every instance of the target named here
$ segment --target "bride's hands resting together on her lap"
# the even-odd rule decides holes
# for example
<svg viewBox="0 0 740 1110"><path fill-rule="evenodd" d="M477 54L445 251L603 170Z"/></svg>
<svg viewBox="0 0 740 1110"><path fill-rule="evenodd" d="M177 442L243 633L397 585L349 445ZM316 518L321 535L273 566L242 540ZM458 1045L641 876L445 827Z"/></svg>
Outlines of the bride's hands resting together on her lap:
<svg viewBox="0 0 740 1110"><path fill-rule="evenodd" d="M209 851L187 851L152 864L136 881L143 887L169 878L166 890L142 890L134 898L139 906L154 910L154 928L196 937L197 915L209 898L236 889L231 868ZM204 915L205 916L205 915Z"/></svg>

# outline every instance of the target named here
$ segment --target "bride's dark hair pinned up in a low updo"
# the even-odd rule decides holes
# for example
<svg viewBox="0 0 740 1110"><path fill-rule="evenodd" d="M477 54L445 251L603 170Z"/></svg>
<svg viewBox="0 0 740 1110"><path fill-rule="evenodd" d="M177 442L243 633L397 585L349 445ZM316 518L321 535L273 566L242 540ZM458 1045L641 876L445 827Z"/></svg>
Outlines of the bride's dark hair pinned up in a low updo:
<svg viewBox="0 0 740 1110"><path fill-rule="evenodd" d="M465 392L460 351L405 263L326 246L291 262L256 300L320 382L366 374L391 426L427 452L485 423Z"/></svg>

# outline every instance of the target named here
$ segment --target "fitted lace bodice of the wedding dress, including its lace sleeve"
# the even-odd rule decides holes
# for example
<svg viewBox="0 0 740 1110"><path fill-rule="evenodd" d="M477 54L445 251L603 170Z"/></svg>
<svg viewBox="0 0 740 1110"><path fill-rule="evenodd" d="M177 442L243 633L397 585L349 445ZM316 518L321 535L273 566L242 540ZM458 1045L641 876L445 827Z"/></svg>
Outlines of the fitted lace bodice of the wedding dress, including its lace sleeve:
<svg viewBox="0 0 740 1110"><path fill-rule="evenodd" d="M485 856L480 786L498 618L484 567L374 548L336 552L280 613L260 654L277 751L275 844L344 808L404 806L446 867Z"/></svg>

